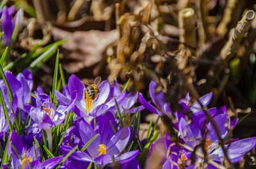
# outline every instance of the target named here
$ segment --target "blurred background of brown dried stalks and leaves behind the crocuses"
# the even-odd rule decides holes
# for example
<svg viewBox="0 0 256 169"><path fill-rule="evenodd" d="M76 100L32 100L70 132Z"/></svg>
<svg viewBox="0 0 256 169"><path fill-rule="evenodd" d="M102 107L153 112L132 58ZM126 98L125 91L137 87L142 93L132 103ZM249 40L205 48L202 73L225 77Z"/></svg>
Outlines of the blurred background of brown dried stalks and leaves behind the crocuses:
<svg viewBox="0 0 256 169"><path fill-rule="evenodd" d="M24 10L12 61L67 40L60 45L66 80L71 74L87 82L100 76L122 86L130 79L128 91L139 90L146 97L154 80L173 111L193 85L199 96L213 92L210 107L227 105L230 117L246 117L234 137L256 136L256 20L250 20L243 36L228 41L243 15L256 10L256 1L16 0L6 4ZM229 43L234 47L224 51ZM224 58L221 51L230 54ZM41 85L45 92L52 89L55 59L49 57L34 72L35 87ZM20 69L19 65L10 68L16 73ZM143 122L150 120L147 115L145 110Z"/></svg>

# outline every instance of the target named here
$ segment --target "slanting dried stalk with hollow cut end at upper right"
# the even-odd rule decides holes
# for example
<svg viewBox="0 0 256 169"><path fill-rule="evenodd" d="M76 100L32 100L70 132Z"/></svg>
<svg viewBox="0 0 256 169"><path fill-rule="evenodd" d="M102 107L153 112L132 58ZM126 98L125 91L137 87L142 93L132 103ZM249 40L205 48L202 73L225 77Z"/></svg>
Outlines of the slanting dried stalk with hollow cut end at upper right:
<svg viewBox="0 0 256 169"><path fill-rule="evenodd" d="M221 49L220 55L223 60L229 60L232 55L234 55L239 47L244 34L248 31L253 18L255 17L255 12L249 10L245 13L243 18L237 23L235 29L232 29L227 43Z"/></svg>

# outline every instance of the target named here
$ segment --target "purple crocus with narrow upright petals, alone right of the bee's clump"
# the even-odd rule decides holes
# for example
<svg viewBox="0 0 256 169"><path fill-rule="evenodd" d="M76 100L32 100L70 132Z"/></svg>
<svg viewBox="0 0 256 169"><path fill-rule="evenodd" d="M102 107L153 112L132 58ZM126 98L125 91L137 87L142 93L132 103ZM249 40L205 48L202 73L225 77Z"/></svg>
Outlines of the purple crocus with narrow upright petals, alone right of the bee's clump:
<svg viewBox="0 0 256 169"><path fill-rule="evenodd" d="M149 84L149 89L148 89L150 97L156 107L151 105L150 101L149 102L146 101L143 98L141 93L138 96L139 101L140 101L141 105L143 105L143 107L145 107L147 110L149 110L150 112L152 112L154 114L170 115L172 113L172 110L170 108L170 103L164 102L164 93L162 91L160 91L158 93L155 92L156 87L157 87L157 84L154 81L151 81Z"/></svg>

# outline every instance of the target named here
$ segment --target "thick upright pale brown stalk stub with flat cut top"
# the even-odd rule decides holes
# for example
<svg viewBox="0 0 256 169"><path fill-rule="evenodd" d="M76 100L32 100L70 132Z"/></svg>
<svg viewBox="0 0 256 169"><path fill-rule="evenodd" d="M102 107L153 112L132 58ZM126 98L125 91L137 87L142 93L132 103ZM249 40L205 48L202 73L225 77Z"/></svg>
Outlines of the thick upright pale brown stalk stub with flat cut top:
<svg viewBox="0 0 256 169"><path fill-rule="evenodd" d="M191 47L196 47L195 11L185 8L179 11L179 40Z"/></svg>

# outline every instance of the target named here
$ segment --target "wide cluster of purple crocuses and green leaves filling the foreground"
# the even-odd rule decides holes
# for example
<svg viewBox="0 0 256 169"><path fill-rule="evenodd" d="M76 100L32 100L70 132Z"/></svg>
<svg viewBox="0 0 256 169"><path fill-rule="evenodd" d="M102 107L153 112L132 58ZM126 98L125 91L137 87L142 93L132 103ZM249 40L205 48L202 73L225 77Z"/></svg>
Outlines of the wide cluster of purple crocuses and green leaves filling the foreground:
<svg viewBox="0 0 256 169"><path fill-rule="evenodd" d="M177 103L182 110L172 112L164 93L155 92L155 82L149 86L152 101L146 101L141 93L122 92L117 82L101 82L92 98L76 75L54 95L41 87L33 91L28 70L16 77L10 71L4 75L8 86L0 80L2 168L149 168L150 162L157 160L156 149L161 154L157 168L223 168L220 138L200 105L209 105L212 93L202 96L200 103L191 103L187 94ZM151 134L148 129L147 138L140 140L143 109L160 117L173 116L179 142L167 133L159 134L156 128ZM207 111L224 139L238 119L231 121L226 107ZM256 145L255 137L226 141L226 158L231 163L240 161Z"/></svg>

